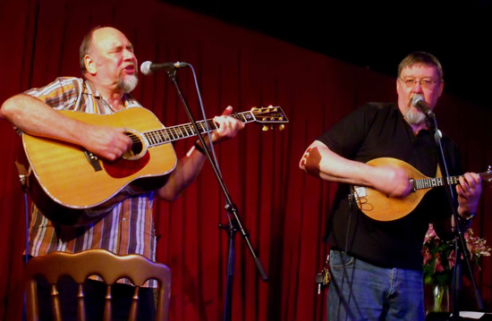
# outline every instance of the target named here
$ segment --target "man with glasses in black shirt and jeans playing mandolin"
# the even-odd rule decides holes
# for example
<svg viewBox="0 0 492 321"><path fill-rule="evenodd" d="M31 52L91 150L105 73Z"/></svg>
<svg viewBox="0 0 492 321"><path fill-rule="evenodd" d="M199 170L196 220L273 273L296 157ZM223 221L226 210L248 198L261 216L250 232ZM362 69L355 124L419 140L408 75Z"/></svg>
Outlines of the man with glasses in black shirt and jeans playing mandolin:
<svg viewBox="0 0 492 321"><path fill-rule="evenodd" d="M301 169L323 180L340 182L328 219L332 281L328 320L424 320L422 257L428 224L449 235L454 220L444 190L430 190L410 214L388 222L364 215L351 197L350 185L367 186L389 198L412 191L406 170L368 165L378 157L402 160L436 177L437 149L425 115L412 106L421 95L432 110L444 88L437 58L416 52L398 68L397 104L368 104L318 137L301 158ZM462 174L454 142L443 137L451 175ZM471 224L481 194L477 173L465 173L456 186L457 212L463 227ZM392 209L393 210L393 209Z"/></svg>

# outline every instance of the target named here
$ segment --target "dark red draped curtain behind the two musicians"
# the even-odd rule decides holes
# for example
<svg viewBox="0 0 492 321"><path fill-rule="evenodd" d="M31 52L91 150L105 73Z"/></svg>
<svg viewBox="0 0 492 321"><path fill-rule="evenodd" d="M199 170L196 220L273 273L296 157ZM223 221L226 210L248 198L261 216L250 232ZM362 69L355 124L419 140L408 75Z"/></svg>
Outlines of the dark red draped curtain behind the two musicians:
<svg viewBox="0 0 492 321"><path fill-rule="evenodd" d="M140 63L191 63L208 117L227 105L236 111L282 106L290 120L284 131L262 131L249 124L236 139L216 147L225 184L269 276L267 283L261 281L250 250L237 234L233 320L323 318L326 293L316 294L314 277L327 254L321 239L335 184L303 173L298 162L318 134L356 106L394 100L394 77L150 0L2 1L0 23L2 102L56 76L80 75L81 38L95 26L110 25L131 40ZM395 71L402 58L394 57ZM180 70L178 80L198 118L191 69ZM134 96L166 126L188 122L165 72L140 76ZM492 164L490 109L445 95L437 119L462 148L465 168L481 172ZM21 146L7 122L0 122L0 133L0 318L18 320L25 221L14 160ZM177 142L176 154L181 156L194 141ZM492 240L486 229L492 221L490 198L490 189L485 189L473 227ZM224 205L209 165L173 204L157 202L157 259L173 272L172 320L222 318L228 243L217 224L227 223ZM486 259L478 284L488 306L491 276Z"/></svg>

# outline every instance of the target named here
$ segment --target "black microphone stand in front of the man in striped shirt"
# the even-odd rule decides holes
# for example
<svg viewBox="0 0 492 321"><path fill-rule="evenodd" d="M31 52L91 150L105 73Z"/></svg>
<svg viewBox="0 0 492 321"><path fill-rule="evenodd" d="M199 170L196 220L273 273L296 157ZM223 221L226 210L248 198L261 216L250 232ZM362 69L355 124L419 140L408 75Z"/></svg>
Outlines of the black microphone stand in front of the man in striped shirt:
<svg viewBox="0 0 492 321"><path fill-rule="evenodd" d="M224 229L226 232L228 232L229 236L229 253L228 253L228 258L227 258L227 280L226 280L226 285L225 285L225 311L224 311L224 321L229 321L231 320L232 317L232 299L233 299L233 275L234 275L234 258L235 258L235 253L234 253L234 236L236 232L241 232L242 238L244 241L246 241L246 244L248 245L248 248L250 249L251 256L253 257L253 260L255 262L255 265L257 266L257 269L259 271L259 275L261 276L261 279L263 281L268 280L267 273L265 272L265 269L263 268L263 265L261 264L260 259L255 253L255 250L253 249L251 242L250 242L250 233L246 230L244 225L242 224L242 219L241 216L239 215L237 208L233 204L233 200L231 199L231 195L229 194L229 191L227 190L227 187L225 186L225 182L222 180L222 176L220 175L216 162L213 161L212 156L210 156L210 152L208 151L207 145L205 144L205 140L201 136L201 132L199 131L199 127L197 125L197 122L195 122L195 119L193 118L193 115L191 114L190 108L188 104L186 103L185 98L182 96L182 91L179 87L178 80L176 78L176 71L173 69L171 71L167 72L167 75L169 78L171 78L174 87L176 88L176 91L178 93L178 96L181 98L182 101L182 106L184 106L184 110L186 111L186 114L188 114L188 118L190 118L191 124L193 126L193 129L197 133L197 136L199 138L199 142L201 146L203 146L203 151L205 152L205 155L208 158L208 162L212 166L212 169L214 173L216 174L216 179L217 182L219 183L224 195L225 195L225 210L227 211L229 215L229 222L230 224L219 224L219 228Z"/></svg>

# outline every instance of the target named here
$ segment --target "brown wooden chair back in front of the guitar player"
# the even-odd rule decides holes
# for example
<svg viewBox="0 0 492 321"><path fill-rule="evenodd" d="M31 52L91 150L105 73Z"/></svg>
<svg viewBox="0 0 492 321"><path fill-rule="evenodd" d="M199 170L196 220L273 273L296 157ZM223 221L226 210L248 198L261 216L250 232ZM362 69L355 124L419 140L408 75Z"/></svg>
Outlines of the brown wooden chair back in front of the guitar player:
<svg viewBox="0 0 492 321"><path fill-rule="evenodd" d="M89 275L99 275L107 285L105 302L105 321L111 320L111 285L121 278L128 278L135 285L129 320L137 319L139 289L147 280L158 283L156 320L167 320L171 296L171 271L165 265L150 261L140 255L116 256L104 249L90 249L77 254L54 252L45 257L31 258L26 266L26 306L28 321L37 321L38 284L37 277L42 275L51 287L53 319L61 321L61 307L56 290L60 276L68 275L77 284L77 308L80 321L86 320L82 283Z"/></svg>

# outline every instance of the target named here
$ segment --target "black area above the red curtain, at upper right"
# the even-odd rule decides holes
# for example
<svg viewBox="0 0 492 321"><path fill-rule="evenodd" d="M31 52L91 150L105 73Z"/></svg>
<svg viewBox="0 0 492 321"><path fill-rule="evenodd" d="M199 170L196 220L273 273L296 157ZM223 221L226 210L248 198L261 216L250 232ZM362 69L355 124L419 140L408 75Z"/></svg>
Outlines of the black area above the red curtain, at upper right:
<svg viewBox="0 0 492 321"><path fill-rule="evenodd" d="M488 104L492 0L168 0L376 72L427 51L443 64L445 91Z"/></svg>

